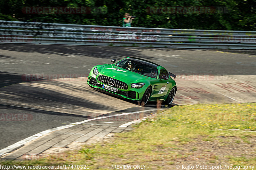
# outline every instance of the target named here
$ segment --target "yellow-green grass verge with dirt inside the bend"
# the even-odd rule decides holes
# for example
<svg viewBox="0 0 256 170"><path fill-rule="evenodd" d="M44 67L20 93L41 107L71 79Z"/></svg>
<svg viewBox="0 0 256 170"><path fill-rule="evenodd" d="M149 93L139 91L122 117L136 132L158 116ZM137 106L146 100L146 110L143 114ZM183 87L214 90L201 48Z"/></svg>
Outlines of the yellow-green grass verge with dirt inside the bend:
<svg viewBox="0 0 256 170"><path fill-rule="evenodd" d="M145 165L146 169L232 164L256 168L256 103L174 106L134 127L80 151L36 160L1 160L0 164L89 165L89 169L124 164Z"/></svg>

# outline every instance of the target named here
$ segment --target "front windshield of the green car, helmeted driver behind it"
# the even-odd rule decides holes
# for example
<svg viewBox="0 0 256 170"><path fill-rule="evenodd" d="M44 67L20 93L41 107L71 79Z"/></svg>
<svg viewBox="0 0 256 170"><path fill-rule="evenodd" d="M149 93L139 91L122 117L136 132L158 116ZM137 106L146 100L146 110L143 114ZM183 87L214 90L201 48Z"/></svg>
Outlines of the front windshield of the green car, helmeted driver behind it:
<svg viewBox="0 0 256 170"><path fill-rule="evenodd" d="M151 78L157 78L157 68L149 66L145 63L141 63L139 61L134 61L132 59L124 59L115 64L121 68L126 70L130 70L142 75L146 75Z"/></svg>

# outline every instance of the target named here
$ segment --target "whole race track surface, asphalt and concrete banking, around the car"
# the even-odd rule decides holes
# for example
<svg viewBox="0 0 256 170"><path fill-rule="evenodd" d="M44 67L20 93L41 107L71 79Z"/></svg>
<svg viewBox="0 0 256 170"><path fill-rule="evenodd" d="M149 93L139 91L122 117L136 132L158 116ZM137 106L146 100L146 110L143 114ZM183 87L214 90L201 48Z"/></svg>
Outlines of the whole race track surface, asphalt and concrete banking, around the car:
<svg viewBox="0 0 256 170"><path fill-rule="evenodd" d="M175 104L256 102L253 95L256 91L256 51L253 50L0 44L0 150L63 124L141 110L136 102L94 91L86 84L86 76L93 66L129 56L153 61L178 75L177 82L183 89L178 89ZM50 81L31 81L24 79L25 74L45 75ZM52 81L53 75L58 79L64 74L70 75L68 78L81 75L82 79ZM191 81L182 81L189 75L194 76ZM200 86L199 75L214 77L204 81L204 87L198 87L200 93L192 89ZM222 86L223 82L233 86ZM244 82L246 84L241 84ZM238 92L241 95L237 96ZM149 103L145 108L156 108L156 103ZM20 121L5 119L6 115L15 117L15 114L25 114L25 117Z"/></svg>

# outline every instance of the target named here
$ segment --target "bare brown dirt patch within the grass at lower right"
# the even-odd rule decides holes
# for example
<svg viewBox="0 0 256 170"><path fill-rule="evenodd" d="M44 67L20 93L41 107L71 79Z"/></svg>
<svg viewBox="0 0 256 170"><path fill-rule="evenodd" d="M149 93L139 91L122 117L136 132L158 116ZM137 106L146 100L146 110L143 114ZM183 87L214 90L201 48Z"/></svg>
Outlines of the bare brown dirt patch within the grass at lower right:
<svg viewBox="0 0 256 170"><path fill-rule="evenodd" d="M204 141L207 138L197 138L193 142L180 145L175 152L177 157L172 159L175 163L227 163L229 156L241 156L253 158L256 152L256 137L248 138L244 142L241 138L232 136L220 136L213 141ZM172 149L172 151L174 151Z"/></svg>

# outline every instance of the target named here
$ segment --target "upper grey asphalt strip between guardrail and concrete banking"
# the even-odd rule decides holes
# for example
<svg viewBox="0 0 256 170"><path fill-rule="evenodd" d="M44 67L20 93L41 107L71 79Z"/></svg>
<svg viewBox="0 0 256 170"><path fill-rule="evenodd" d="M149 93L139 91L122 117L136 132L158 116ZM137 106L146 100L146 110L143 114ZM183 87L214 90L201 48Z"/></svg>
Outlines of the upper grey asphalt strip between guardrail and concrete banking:
<svg viewBox="0 0 256 170"><path fill-rule="evenodd" d="M1 44L6 74L88 74L98 64L139 57L175 74L255 75L255 51ZM168 61L168 62L167 62ZM3 73L2 73L3 74Z"/></svg>

